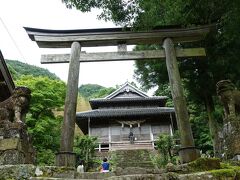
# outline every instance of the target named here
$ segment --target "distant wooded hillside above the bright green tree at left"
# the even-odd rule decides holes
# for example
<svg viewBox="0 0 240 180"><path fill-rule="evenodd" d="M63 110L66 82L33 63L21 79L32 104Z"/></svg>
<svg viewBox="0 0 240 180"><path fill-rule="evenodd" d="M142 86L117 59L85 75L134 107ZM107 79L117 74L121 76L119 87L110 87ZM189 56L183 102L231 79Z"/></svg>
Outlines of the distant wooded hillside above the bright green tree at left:
<svg viewBox="0 0 240 180"><path fill-rule="evenodd" d="M32 75L34 77L37 76L45 76L48 77L50 79L58 79L59 78L49 72L47 69L43 69L37 66L33 66L33 65L29 65L20 61L16 61L16 60L7 60L7 65L8 68L13 76L13 79L18 79L20 76L22 75Z"/></svg>

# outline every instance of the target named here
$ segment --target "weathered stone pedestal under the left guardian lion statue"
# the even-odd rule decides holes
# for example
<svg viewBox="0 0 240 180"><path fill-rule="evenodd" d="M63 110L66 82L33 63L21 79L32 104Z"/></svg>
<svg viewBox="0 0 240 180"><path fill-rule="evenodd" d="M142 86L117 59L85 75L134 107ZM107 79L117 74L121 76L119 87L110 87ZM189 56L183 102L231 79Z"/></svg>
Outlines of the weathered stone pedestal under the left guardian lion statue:
<svg viewBox="0 0 240 180"><path fill-rule="evenodd" d="M19 123L0 121L0 165L33 164L35 150L27 127Z"/></svg>

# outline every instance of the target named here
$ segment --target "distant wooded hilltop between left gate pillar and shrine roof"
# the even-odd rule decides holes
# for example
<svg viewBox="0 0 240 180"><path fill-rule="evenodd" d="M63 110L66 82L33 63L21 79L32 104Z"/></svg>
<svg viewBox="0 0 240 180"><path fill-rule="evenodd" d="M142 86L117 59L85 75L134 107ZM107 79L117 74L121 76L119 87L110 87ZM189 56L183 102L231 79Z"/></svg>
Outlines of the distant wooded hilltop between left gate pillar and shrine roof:
<svg viewBox="0 0 240 180"><path fill-rule="evenodd" d="M79 87L79 94L85 98L102 98L112 93L114 88L105 88L97 84L84 84Z"/></svg>

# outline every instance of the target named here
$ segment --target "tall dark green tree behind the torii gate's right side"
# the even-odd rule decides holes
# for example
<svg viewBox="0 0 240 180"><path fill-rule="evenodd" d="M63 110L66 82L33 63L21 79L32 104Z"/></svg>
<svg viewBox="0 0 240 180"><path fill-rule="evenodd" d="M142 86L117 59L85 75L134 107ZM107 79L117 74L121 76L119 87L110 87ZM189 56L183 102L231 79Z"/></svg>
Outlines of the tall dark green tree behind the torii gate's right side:
<svg viewBox="0 0 240 180"><path fill-rule="evenodd" d="M180 72L188 99L205 106L208 113L210 132L217 144L217 120L214 104L215 84L221 79L230 79L240 85L240 3L237 0L64 0L67 5L82 11L102 9L99 18L112 20L121 25L133 25L135 30L153 29L163 25L182 27L216 24L202 42L177 44L179 47L202 46L206 48L205 60L184 58L179 61ZM142 46L140 49L159 49L160 46ZM139 49L139 47L137 47ZM167 83L164 62L159 60L136 63L136 77L146 89L162 87Z"/></svg>

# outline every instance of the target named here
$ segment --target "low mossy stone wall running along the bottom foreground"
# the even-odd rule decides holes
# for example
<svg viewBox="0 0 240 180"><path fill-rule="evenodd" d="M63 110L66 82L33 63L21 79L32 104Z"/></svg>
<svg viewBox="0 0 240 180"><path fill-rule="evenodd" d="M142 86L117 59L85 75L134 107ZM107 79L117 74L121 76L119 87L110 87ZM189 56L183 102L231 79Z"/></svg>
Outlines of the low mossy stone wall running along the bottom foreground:
<svg viewBox="0 0 240 180"><path fill-rule="evenodd" d="M34 165L0 165L1 180L70 180L70 179L114 179L114 180L236 180L240 178L240 166L220 166L219 159L200 158L184 165L168 165L165 169L128 167L117 168L109 173L78 173L74 168Z"/></svg>

